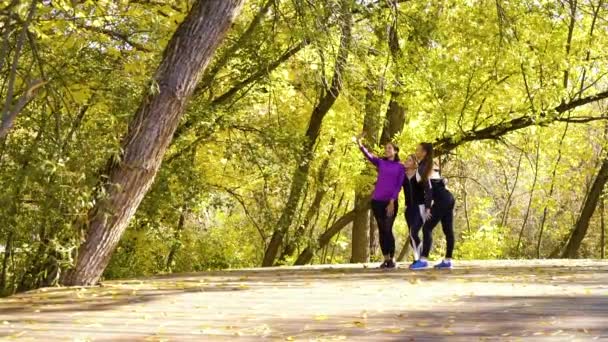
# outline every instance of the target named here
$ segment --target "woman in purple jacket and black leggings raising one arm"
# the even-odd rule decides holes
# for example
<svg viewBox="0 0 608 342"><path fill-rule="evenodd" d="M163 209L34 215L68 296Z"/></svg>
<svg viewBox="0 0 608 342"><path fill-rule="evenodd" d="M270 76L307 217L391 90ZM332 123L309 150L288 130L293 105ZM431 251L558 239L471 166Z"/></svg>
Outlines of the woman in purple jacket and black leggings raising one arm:
<svg viewBox="0 0 608 342"><path fill-rule="evenodd" d="M395 236L393 224L399 208L398 198L401 185L405 179L405 167L399 162L399 147L393 143L386 144L384 158L378 158L365 149L361 139L357 139L359 148L378 169L378 178L372 195L372 212L378 223L380 248L384 262L380 268L395 268Z"/></svg>

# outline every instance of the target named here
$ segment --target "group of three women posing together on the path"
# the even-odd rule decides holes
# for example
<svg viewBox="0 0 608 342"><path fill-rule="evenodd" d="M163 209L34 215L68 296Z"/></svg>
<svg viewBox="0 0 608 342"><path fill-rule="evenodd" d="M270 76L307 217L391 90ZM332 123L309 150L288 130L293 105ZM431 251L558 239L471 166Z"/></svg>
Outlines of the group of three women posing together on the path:
<svg viewBox="0 0 608 342"><path fill-rule="evenodd" d="M454 197L445 186L445 179L433 163L433 145L421 143L415 154L407 157L402 164L399 148L388 143L384 157L372 155L357 139L359 148L367 159L378 169L378 178L372 194L372 212L378 223L380 248L384 255L381 268L395 268L395 237L393 224L399 207L401 188L405 197L405 220L409 227L409 239L414 252L412 270L429 266L428 257L433 242L433 229L441 222L447 248L445 258L435 268L452 268L454 250ZM420 230L423 239L420 240Z"/></svg>

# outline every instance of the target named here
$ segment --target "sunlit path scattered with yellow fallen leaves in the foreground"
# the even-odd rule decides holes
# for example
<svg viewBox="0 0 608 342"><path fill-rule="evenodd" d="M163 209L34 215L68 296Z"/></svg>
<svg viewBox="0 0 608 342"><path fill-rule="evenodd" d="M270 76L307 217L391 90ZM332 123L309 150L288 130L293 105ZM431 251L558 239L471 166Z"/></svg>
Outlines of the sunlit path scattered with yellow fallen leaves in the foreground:
<svg viewBox="0 0 608 342"><path fill-rule="evenodd" d="M608 262L250 269L0 299L19 341L608 341Z"/></svg>

